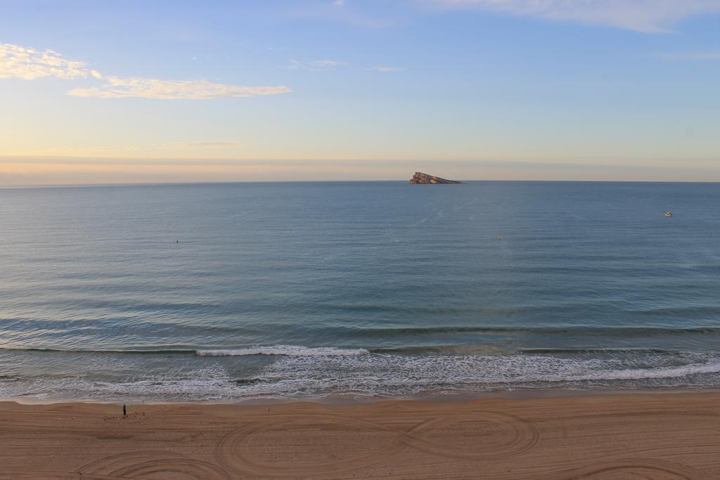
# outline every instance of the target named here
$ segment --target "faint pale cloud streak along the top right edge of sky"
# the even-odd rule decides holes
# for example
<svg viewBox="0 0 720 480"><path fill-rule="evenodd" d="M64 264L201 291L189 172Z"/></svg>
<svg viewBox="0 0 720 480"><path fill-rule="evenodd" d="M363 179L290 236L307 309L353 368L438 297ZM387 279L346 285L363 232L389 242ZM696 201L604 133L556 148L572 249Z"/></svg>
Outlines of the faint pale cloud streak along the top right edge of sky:
<svg viewBox="0 0 720 480"><path fill-rule="evenodd" d="M720 12L720 0L431 0L456 8L668 32L682 19Z"/></svg>

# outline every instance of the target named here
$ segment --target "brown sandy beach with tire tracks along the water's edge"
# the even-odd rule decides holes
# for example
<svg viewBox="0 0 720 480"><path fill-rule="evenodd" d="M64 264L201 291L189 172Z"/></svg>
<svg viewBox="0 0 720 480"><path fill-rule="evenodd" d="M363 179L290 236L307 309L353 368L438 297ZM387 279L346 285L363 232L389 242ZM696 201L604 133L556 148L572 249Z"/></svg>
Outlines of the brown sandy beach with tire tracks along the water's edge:
<svg viewBox="0 0 720 480"><path fill-rule="evenodd" d="M717 479L720 394L0 403L1 479Z"/></svg>

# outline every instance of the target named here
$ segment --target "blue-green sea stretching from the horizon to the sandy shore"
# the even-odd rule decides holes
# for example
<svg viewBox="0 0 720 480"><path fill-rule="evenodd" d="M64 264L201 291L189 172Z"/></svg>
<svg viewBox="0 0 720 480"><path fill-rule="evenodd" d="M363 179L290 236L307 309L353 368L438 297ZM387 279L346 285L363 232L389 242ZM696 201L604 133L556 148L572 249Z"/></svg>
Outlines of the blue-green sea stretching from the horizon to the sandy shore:
<svg viewBox="0 0 720 480"><path fill-rule="evenodd" d="M716 387L719 345L718 184L0 189L3 399Z"/></svg>

